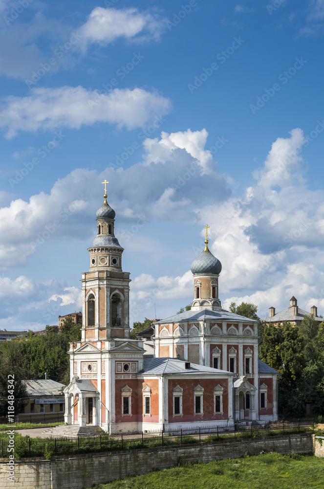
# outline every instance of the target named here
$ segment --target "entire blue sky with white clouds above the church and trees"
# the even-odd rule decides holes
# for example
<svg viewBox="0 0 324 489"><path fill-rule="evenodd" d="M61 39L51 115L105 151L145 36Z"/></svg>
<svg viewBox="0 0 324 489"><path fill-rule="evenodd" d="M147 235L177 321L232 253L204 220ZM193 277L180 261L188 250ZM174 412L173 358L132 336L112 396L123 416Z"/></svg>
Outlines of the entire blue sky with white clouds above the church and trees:
<svg viewBox="0 0 324 489"><path fill-rule="evenodd" d="M324 1L0 1L0 328L80 310L103 200L131 320L220 298L324 312Z"/></svg>

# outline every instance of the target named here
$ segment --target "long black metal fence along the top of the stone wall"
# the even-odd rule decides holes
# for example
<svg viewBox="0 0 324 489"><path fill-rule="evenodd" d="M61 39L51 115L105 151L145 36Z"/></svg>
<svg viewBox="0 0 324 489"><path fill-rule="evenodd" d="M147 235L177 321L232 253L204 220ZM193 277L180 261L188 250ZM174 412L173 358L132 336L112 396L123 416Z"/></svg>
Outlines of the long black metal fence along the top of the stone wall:
<svg viewBox="0 0 324 489"><path fill-rule="evenodd" d="M17 437L15 454L21 457L72 455L91 452L130 450L168 445L240 441L257 437L280 436L314 431L313 420L250 423L244 427L208 426L167 431L141 431L117 434L98 434L91 437L29 438ZM9 437L1 440L2 457L7 456Z"/></svg>

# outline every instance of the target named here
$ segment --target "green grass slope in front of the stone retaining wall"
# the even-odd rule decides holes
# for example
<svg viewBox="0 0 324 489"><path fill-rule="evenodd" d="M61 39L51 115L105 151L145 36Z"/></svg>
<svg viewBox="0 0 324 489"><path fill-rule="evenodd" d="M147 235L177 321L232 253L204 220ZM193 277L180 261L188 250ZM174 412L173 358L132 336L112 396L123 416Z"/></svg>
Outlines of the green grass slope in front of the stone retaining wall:
<svg viewBox="0 0 324 489"><path fill-rule="evenodd" d="M264 453L209 464L186 464L92 489L322 489L324 459ZM85 488L89 489L89 488Z"/></svg>

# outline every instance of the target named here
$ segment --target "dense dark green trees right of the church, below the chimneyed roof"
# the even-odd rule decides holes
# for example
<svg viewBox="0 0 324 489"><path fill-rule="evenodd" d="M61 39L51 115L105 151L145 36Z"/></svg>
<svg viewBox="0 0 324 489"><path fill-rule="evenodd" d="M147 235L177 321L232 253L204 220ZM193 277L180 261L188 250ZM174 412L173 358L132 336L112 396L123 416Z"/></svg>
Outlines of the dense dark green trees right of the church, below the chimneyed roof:
<svg viewBox="0 0 324 489"><path fill-rule="evenodd" d="M306 403L312 414L324 414L324 328L313 316L300 326L287 321L260 328L260 358L281 373L279 411L284 416L304 416Z"/></svg>

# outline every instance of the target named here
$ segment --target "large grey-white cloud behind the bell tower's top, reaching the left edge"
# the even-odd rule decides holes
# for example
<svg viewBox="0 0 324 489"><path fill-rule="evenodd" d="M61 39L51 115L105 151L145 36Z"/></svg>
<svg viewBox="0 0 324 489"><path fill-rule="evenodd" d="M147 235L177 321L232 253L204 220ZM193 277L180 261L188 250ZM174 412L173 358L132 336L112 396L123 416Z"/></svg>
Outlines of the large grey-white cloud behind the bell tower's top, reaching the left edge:
<svg viewBox="0 0 324 489"><path fill-rule="evenodd" d="M98 188L104 178L113 183L108 200L118 215L117 236L125 245L138 246L138 239L132 237L148 222L197 221L206 200L221 202L230 195L216 162L204 150L206 138L205 130L162 133L161 139L144 141L144 161L130 168L108 167L100 175L74 170L55 182L49 195L41 192L29 202L12 200L0 208L0 268L24 264L39 246L55 240L80 235L91 242ZM152 248L159 249L156 244Z"/></svg>

